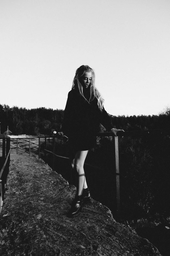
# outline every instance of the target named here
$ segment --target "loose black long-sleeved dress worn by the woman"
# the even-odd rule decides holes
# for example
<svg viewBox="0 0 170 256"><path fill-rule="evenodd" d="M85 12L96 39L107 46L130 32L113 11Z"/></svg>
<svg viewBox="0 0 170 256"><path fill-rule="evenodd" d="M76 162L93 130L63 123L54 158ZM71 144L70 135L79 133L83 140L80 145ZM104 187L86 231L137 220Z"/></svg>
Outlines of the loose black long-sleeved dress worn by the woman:
<svg viewBox="0 0 170 256"><path fill-rule="evenodd" d="M87 100L90 99L90 90L83 91ZM100 111L97 99L85 100L76 89L68 93L64 110L64 120L61 131L68 134L70 151L89 150L96 143L96 133L100 124L108 131L113 128L111 119L105 109Z"/></svg>

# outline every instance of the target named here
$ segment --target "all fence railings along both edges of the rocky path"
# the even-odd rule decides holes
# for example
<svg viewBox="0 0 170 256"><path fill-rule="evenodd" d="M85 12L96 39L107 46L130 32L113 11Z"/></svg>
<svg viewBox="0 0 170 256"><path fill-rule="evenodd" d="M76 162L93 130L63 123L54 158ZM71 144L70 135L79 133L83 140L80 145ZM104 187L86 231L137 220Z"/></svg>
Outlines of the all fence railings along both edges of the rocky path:
<svg viewBox="0 0 170 256"><path fill-rule="evenodd" d="M117 202L117 214L119 215L120 213L120 179L119 179L119 149L118 149L118 137L124 137L124 136L133 136L133 137L141 137L141 136L148 136L148 135L155 135L155 136L159 136L159 135L167 135L170 134L170 129L156 129L156 130L145 130L145 131L127 131L127 132L118 132L117 133L117 137L114 136L114 134L112 132L106 132L106 133L97 133L98 137L112 137L112 141L113 141L113 172L116 175L116 202ZM1 135L2 136L2 135ZM6 160L5 160L5 138L3 139L3 159L5 160L5 162L10 161L10 137L9 136L5 136L8 137L6 138L7 143L6 143ZM29 155L31 152L31 147L30 147L30 139L31 138L38 138L38 158L40 158L40 138L44 138L45 139L45 154L46 152L49 152L51 154L53 154L53 161L52 161L52 170L54 170L54 161L55 161L55 157L61 157L61 158L65 158L68 159L67 157L63 157L63 156L59 156L55 154L55 137L50 137L50 136L41 136L41 137L18 137L18 138L11 138L11 139L17 139L17 154L18 154L18 139L29 139ZM47 150L47 138L52 138L53 141L53 145L52 151ZM92 166L90 164L85 163L86 165ZM4 163L5 165L5 163ZM6 166L6 165L5 165ZM4 166L3 166L4 167ZM98 166L92 166L94 168L99 168ZM5 168L5 167L4 167ZM8 172L8 171L7 171ZM2 199L3 199L3 191L5 191L4 188L4 184L5 184L5 180L7 177L7 172L5 172L4 174L4 181L2 181L3 184L3 189L2 189ZM3 169L1 170L1 174L3 173ZM0 175L1 177L1 175ZM4 182L4 183L3 183Z"/></svg>

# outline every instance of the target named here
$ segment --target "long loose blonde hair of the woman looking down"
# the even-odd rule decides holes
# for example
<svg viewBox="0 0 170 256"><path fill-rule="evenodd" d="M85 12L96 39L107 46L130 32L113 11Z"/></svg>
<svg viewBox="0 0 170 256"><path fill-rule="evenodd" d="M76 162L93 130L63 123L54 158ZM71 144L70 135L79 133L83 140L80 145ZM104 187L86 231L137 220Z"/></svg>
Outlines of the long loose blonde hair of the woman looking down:
<svg viewBox="0 0 170 256"><path fill-rule="evenodd" d="M81 85L81 83L78 80L80 77L82 77L84 75L85 72L92 72L92 80L91 80L89 101L84 97L84 95L83 95L83 86ZM100 111L102 111L103 104L104 104L104 99L102 98L101 94L99 93L99 91L95 87L94 70L92 68L90 68L88 65L82 65L76 70L76 74L75 74L75 77L73 79L72 89L78 89L80 95L83 96L85 98L85 100L87 100L89 103L90 103L90 101L92 101L96 97L97 105L98 105Z"/></svg>

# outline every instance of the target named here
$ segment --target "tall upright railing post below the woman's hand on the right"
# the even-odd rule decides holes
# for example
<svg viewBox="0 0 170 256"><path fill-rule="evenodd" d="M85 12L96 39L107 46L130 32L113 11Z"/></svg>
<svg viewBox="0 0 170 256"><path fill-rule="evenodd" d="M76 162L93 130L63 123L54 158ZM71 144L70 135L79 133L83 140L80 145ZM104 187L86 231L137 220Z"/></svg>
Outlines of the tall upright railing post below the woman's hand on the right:
<svg viewBox="0 0 170 256"><path fill-rule="evenodd" d="M118 137L114 137L115 141L115 167L116 167L116 203L117 214L120 213L120 180L119 180L119 149L118 149Z"/></svg>

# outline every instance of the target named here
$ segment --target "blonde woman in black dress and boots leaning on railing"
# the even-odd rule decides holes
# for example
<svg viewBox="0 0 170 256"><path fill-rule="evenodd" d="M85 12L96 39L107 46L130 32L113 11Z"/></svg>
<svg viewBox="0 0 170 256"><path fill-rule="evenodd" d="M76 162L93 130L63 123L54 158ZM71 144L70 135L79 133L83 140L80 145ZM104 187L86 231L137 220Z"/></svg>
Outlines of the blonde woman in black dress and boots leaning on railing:
<svg viewBox="0 0 170 256"><path fill-rule="evenodd" d="M112 126L111 119L103 107L104 99L95 88L94 70L82 65L76 70L72 90L68 93L62 125L62 136L69 134L70 160L77 175L77 193L68 212L69 217L81 211L82 203L91 200L84 174L84 161L89 149L96 143L96 133L102 124L116 136L120 129Z"/></svg>

